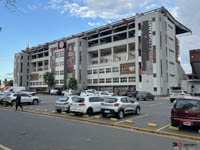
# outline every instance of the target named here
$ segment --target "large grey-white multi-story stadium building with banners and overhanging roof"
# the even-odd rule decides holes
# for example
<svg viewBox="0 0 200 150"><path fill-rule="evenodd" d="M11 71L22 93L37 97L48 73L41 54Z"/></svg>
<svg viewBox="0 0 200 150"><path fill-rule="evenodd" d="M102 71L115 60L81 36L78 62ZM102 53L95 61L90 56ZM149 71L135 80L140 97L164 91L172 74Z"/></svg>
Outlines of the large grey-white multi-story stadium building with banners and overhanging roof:
<svg viewBox="0 0 200 150"><path fill-rule="evenodd" d="M180 85L177 35L187 32L191 30L162 7L29 48L27 86L47 87L42 76L49 71L55 75L56 87L75 77L79 89L145 90L167 95L170 87ZM18 72L15 79L20 82Z"/></svg>

